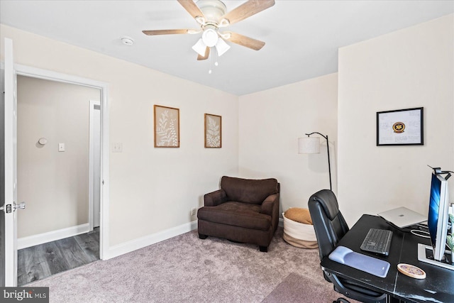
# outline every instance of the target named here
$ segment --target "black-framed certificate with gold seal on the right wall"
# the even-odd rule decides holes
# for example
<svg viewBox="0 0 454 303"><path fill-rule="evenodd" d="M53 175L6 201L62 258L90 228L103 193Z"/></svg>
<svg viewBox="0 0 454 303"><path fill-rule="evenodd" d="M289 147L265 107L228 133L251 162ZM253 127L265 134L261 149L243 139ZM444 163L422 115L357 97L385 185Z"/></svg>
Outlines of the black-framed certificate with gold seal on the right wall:
<svg viewBox="0 0 454 303"><path fill-rule="evenodd" d="M423 144L423 107L377 112L377 146Z"/></svg>

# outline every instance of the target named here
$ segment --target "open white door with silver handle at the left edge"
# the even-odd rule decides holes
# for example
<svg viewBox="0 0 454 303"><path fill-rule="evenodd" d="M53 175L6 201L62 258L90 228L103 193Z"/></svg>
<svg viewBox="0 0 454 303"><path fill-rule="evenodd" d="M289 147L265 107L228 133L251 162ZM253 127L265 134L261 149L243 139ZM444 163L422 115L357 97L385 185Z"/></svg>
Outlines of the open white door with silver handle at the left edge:
<svg viewBox="0 0 454 303"><path fill-rule="evenodd" d="M5 255L4 284L6 287L17 285L17 101L16 73L13 67L13 41L5 38L5 74L4 74L4 170L5 202L4 211Z"/></svg>

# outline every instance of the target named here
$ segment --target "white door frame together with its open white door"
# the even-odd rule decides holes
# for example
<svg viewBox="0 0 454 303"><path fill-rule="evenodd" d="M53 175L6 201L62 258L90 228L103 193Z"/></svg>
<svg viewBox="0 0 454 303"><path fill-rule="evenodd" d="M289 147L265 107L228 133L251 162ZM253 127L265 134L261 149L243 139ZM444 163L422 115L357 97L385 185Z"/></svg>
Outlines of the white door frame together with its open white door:
<svg viewBox="0 0 454 303"><path fill-rule="evenodd" d="M101 228L99 228L99 256L101 260L109 259L109 102L108 102L108 86L104 82L99 82L92 79L77 77L60 72L52 72L50 70L42 70L35 67L18 65L13 63L13 45L10 39L5 38L5 64L1 64L2 84L5 85L5 92L1 95L2 101L2 116L5 117L4 140L1 144L4 145L5 160L4 174L8 178L4 180L3 199L9 204L6 204L6 215L4 216L4 239L1 239L2 258L1 273L5 279L1 279L1 285L16 286L17 285L17 243L16 243L16 207L11 211L11 205L16 200L16 157L14 150L16 149L16 123L15 123L15 92L16 92L16 76L22 75L27 77L35 77L39 79L48 79L56 82L65 82L79 84L85 87L94 87L101 91ZM3 69L5 73L3 74ZM6 75L6 70L8 75ZM8 77L6 77L8 76ZM3 98L4 97L4 98ZM6 115L8 113L8 115ZM6 115L6 116L5 116ZM11 116L10 116L11 115ZM12 118L11 118L12 117ZM8 118L8 119L6 119ZM7 135L7 136L6 136ZM6 153L6 151L8 153ZM12 177L11 177L12 175ZM11 177L11 178L9 178ZM2 202L5 202L2 201ZM3 229L3 228L0 228ZM4 245L3 245L4 243ZM6 260L8 260L6 262Z"/></svg>

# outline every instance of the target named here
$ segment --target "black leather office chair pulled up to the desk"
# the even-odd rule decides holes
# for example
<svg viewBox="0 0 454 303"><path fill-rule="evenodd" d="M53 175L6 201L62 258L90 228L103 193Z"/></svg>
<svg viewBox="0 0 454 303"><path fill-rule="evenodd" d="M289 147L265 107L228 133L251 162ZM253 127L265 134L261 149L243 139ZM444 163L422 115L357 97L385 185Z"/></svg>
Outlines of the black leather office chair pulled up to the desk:
<svg viewBox="0 0 454 303"><path fill-rule="evenodd" d="M329 189L322 189L309 198L309 212L319 243L320 260L331 253L341 238L349 231L348 225L339 211L336 195ZM333 283L334 290L365 303L385 303L387 295L365 288L360 283L324 272L325 280ZM338 302L342 299L338 299Z"/></svg>

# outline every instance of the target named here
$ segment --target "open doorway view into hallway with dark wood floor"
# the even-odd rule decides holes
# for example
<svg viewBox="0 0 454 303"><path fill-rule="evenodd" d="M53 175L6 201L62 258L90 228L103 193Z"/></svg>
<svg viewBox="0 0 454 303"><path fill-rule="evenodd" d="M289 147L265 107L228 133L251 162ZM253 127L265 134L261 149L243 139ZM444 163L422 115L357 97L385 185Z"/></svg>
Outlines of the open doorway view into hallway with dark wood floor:
<svg viewBox="0 0 454 303"><path fill-rule="evenodd" d="M99 259L93 220L101 92L21 75L17 87L18 201L28 202L18 213L18 285L24 285Z"/></svg>

